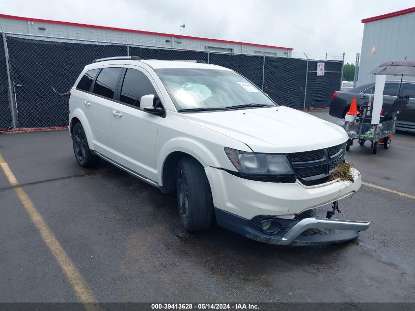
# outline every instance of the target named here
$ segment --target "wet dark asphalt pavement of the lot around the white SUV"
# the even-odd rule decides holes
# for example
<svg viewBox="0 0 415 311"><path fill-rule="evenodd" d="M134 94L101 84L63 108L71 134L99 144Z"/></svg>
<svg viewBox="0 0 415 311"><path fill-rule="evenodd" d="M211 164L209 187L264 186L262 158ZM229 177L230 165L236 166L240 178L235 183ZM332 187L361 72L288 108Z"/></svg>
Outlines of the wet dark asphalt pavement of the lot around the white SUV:
<svg viewBox="0 0 415 311"><path fill-rule="evenodd" d="M100 302L415 302L414 150L405 133L376 155L353 145L362 180L387 190L363 185L336 218L371 227L340 245L281 247L218 226L184 231L174 197L104 161L79 167L66 130L0 135L4 162ZM19 198L0 171L0 302L79 301Z"/></svg>

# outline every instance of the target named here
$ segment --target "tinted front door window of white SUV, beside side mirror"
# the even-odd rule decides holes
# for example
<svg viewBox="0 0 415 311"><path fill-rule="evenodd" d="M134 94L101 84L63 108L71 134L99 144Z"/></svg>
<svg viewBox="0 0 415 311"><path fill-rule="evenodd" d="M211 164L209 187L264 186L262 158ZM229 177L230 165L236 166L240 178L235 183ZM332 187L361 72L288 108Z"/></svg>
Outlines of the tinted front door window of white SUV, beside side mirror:
<svg viewBox="0 0 415 311"><path fill-rule="evenodd" d="M147 76L137 69L128 68L121 88L120 101L140 107L141 97L154 94L156 90Z"/></svg>

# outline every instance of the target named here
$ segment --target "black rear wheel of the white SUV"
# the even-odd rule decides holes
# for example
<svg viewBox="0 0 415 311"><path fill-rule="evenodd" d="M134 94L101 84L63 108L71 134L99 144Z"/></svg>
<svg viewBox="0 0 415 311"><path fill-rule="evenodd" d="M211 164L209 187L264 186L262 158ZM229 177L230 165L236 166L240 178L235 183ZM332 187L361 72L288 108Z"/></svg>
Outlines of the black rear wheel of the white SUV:
<svg viewBox="0 0 415 311"><path fill-rule="evenodd" d="M72 146L74 148L75 158L80 166L89 168L97 165L100 158L89 149L85 131L80 122L75 124L72 129Z"/></svg>

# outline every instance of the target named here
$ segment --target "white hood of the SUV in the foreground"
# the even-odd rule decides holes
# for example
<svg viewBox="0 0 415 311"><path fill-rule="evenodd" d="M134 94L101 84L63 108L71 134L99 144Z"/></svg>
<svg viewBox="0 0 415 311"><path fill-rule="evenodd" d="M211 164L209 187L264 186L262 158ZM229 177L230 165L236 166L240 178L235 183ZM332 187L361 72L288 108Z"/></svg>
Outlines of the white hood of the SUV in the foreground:
<svg viewBox="0 0 415 311"><path fill-rule="evenodd" d="M242 141L254 152L310 151L347 141L343 128L288 107L185 113L193 123Z"/></svg>

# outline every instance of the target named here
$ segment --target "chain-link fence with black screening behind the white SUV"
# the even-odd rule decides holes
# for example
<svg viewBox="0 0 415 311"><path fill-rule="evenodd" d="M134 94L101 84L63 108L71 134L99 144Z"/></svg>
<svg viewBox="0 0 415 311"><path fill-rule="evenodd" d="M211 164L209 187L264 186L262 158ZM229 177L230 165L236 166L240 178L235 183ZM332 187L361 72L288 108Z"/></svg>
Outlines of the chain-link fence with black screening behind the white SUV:
<svg viewBox="0 0 415 311"><path fill-rule="evenodd" d="M135 55L142 59L204 60L235 70L263 89L277 104L296 109L328 106L332 93L340 87L343 66L343 60L321 60L325 63L325 74L317 76L319 61L308 58L181 50L11 33L3 37L6 44L0 47L0 131L13 127L66 126L69 108L65 94L83 67L97 58ZM7 77L7 60L10 79Z"/></svg>

